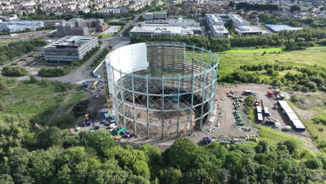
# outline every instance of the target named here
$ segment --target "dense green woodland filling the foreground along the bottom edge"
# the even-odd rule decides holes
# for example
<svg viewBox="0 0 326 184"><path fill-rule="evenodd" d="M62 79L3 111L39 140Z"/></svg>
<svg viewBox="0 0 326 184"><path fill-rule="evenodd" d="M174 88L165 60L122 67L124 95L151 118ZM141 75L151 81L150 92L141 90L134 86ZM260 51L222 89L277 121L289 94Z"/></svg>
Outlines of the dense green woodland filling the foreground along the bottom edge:
<svg viewBox="0 0 326 184"><path fill-rule="evenodd" d="M162 152L148 144L137 149L117 146L107 130L77 136L58 128L32 133L15 127L15 118L1 121L5 141L0 183L4 184L322 183L326 179L325 155L302 151L292 141L276 148L266 141L257 146L214 142L199 147L179 138Z"/></svg>

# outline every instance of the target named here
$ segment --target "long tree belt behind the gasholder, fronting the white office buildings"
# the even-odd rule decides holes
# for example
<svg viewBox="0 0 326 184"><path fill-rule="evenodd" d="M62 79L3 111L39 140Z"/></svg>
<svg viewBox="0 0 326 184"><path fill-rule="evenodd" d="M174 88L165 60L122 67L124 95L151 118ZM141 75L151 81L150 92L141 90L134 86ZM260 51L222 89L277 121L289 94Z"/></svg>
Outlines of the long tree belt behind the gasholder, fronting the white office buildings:
<svg viewBox="0 0 326 184"><path fill-rule="evenodd" d="M204 47L213 52L231 49L231 47L281 46L286 43L311 45L312 41L326 38L326 28L305 28L297 31L280 31L268 36L246 36L235 38L214 38L212 36L133 36L131 43L142 42L179 42Z"/></svg>

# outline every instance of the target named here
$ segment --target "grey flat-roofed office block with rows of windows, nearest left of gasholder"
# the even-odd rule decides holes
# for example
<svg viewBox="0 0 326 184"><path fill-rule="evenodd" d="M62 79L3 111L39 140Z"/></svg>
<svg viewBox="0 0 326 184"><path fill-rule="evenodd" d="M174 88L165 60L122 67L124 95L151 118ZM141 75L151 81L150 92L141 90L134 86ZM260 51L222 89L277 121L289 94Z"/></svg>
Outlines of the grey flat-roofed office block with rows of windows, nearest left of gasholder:
<svg viewBox="0 0 326 184"><path fill-rule="evenodd" d="M43 47L46 61L78 61L98 46L96 36L66 36Z"/></svg>

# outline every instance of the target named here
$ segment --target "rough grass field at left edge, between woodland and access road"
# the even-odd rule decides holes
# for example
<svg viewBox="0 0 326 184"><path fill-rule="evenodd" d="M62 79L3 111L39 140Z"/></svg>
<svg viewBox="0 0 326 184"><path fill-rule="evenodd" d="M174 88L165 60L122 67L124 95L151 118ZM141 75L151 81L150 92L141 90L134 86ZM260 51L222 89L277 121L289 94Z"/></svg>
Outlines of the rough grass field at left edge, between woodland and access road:
<svg viewBox="0 0 326 184"><path fill-rule="evenodd" d="M27 119L34 116L42 116L47 119L57 109L69 109L75 102L85 96L85 92L77 86L68 91L59 91L55 83L38 82L29 84L16 82L9 89L0 91L0 101L4 105L1 113L21 114Z"/></svg>

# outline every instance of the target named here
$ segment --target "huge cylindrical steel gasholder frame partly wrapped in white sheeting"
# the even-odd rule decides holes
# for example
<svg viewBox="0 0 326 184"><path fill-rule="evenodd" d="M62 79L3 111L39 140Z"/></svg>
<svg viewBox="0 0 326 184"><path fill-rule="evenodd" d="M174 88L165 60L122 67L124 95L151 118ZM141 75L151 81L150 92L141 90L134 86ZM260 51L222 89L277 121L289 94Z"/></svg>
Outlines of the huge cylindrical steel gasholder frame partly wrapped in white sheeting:
<svg viewBox="0 0 326 184"><path fill-rule="evenodd" d="M104 62L119 126L169 139L202 130L215 103L218 57L183 43L137 43Z"/></svg>

